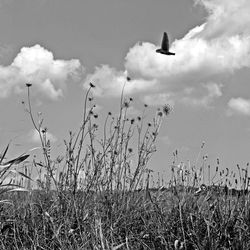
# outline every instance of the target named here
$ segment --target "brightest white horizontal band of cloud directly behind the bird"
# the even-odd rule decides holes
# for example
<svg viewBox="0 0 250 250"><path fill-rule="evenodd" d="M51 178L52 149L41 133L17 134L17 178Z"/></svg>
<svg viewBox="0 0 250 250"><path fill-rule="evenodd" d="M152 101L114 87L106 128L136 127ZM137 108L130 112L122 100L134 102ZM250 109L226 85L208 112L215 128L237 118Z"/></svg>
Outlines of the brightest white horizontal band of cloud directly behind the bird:
<svg viewBox="0 0 250 250"><path fill-rule="evenodd" d="M126 56L126 69L131 75L157 78L162 81L171 77L192 74L197 78L218 73L233 72L250 65L250 37L235 35L207 41L202 38L185 37L173 43L173 57L155 53L150 43L136 44Z"/></svg>

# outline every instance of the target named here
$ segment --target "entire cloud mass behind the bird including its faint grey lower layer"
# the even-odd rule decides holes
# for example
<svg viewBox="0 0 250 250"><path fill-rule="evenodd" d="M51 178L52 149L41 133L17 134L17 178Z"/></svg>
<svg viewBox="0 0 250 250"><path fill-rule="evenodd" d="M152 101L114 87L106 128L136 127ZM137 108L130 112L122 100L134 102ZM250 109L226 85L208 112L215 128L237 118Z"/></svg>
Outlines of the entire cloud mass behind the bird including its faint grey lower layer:
<svg viewBox="0 0 250 250"><path fill-rule="evenodd" d="M155 53L159 45L135 44L124 59L124 71L105 66L88 75L87 80L97 80L99 96L120 95L129 75L133 84L128 92L139 93L148 102L163 104L171 100L208 107L221 97L221 85L211 82L217 76L250 67L250 1L195 2L206 9L206 20L173 41L171 51L176 52L175 56Z"/></svg>

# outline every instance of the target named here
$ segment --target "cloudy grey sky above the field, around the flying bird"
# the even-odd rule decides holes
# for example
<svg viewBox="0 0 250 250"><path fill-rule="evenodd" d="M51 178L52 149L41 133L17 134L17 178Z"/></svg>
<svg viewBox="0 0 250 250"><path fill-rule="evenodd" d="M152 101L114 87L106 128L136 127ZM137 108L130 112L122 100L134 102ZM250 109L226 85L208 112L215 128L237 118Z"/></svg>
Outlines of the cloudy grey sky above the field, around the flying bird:
<svg viewBox="0 0 250 250"><path fill-rule="evenodd" d="M81 121L89 82L102 114L116 112L121 88L148 116L165 103L150 162L168 172L172 153L196 161L202 142L215 167L250 161L249 0L0 0L0 145L10 155L38 145L21 104L32 86L55 152ZM167 31L169 57L155 53ZM58 151L59 150L59 151ZM203 154L202 153L202 154Z"/></svg>

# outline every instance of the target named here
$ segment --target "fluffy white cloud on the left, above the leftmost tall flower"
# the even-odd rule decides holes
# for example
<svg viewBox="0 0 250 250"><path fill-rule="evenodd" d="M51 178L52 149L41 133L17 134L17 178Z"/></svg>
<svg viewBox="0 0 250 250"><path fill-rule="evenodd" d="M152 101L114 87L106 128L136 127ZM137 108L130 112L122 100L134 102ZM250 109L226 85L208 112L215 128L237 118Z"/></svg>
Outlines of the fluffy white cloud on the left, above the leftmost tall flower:
<svg viewBox="0 0 250 250"><path fill-rule="evenodd" d="M30 82L37 92L56 100L63 96L67 81L79 81L82 73L79 60L56 60L38 44L23 47L10 65L0 65L0 97L20 93Z"/></svg>

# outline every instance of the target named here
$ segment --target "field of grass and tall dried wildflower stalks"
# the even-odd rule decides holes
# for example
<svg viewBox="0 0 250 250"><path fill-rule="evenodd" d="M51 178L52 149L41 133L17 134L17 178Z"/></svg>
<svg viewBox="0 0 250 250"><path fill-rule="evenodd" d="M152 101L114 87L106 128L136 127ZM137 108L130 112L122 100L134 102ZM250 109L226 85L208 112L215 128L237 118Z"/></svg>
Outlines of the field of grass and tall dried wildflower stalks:
<svg viewBox="0 0 250 250"><path fill-rule="evenodd" d="M133 99L122 92L119 114L109 112L100 129L90 97L94 87L91 83L86 92L79 131L70 132L64 156L52 159L27 84L25 108L40 136L43 159L27 161L25 154L6 161L9 146L1 156L0 248L250 249L248 166L238 166L236 178L217 160L212 175L205 156L200 167L198 159L189 166L178 162L176 151L168 185L162 186L160 177L152 185L147 164L170 107L146 123L147 105L141 116L130 118Z"/></svg>

